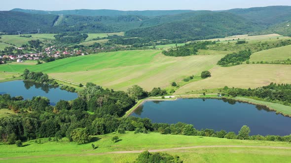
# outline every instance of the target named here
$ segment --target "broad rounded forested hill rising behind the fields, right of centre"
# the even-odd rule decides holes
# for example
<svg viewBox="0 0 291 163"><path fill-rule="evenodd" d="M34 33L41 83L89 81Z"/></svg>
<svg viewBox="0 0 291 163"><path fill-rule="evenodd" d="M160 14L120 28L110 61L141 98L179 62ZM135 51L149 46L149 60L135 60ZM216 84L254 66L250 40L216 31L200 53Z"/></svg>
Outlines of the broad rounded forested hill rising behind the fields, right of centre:
<svg viewBox="0 0 291 163"><path fill-rule="evenodd" d="M208 39L257 31L263 27L226 12L210 13L155 27L132 29L128 37L151 39Z"/></svg>

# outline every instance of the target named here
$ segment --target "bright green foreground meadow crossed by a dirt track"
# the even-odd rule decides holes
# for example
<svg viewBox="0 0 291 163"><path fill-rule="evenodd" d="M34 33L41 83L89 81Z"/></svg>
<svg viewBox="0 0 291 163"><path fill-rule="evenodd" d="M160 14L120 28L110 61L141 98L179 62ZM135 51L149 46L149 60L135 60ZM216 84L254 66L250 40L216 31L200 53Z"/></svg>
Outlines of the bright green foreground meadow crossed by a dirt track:
<svg viewBox="0 0 291 163"><path fill-rule="evenodd" d="M117 143L111 141L112 136L115 135L121 139ZM225 161L238 163L277 161L283 163L291 160L291 144L288 142L230 140L216 137L161 135L159 133L133 134L133 132L122 135L113 133L97 138L98 140L91 142L98 145L95 150L92 150L91 143L77 145L67 141L66 138L63 138L61 142L49 142L47 138L43 138L41 139L42 144L36 144L34 140L31 140L25 142L24 147L16 147L15 144L1 145L0 162L125 163L133 162L142 151L159 149L166 149L164 152L180 156L184 163L191 163L194 159L197 162L211 163ZM179 147L183 148L169 149ZM184 147L188 147L188 149ZM288 148L284 149L284 147ZM134 153L130 151L134 151ZM9 160L3 160L3 158Z"/></svg>

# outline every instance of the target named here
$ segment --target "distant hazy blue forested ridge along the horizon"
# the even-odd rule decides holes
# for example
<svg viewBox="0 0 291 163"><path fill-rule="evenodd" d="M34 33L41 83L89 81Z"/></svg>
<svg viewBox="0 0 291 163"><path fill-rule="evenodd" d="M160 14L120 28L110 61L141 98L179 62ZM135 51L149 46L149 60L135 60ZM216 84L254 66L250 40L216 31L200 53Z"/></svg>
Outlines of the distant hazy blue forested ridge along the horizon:
<svg viewBox="0 0 291 163"><path fill-rule="evenodd" d="M139 15L139 16L161 16L161 15L175 15L180 13L191 12L192 10L145 10L145 11L120 11L120 10L61 10L61 11L42 11L42 10L27 10L15 8L11 11L20 11L31 14L64 14L64 15L81 15L81 16L124 16L124 15Z"/></svg>

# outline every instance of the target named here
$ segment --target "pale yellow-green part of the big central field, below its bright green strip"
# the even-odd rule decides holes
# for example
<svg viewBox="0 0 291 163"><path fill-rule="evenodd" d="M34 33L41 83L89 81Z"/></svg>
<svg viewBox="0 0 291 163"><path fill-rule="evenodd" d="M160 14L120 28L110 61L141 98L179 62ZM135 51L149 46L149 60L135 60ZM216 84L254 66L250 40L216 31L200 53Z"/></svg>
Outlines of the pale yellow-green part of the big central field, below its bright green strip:
<svg viewBox="0 0 291 163"><path fill-rule="evenodd" d="M129 86L138 84L149 91L153 87L168 87L173 81L181 81L185 77L197 75L204 70L211 69L223 56L169 57L157 54L150 63L146 64L89 71L48 73L48 75L77 83L94 82L117 90L126 90Z"/></svg>

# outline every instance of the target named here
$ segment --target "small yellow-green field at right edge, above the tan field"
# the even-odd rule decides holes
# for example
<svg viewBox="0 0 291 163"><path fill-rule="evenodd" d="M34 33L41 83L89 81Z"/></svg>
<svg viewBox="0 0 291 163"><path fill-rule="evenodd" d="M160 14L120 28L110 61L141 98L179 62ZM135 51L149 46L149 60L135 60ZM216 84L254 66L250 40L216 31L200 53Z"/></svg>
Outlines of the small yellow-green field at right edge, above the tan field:
<svg viewBox="0 0 291 163"><path fill-rule="evenodd" d="M291 59L291 45L256 52L251 55L251 62L256 61L278 61Z"/></svg>

